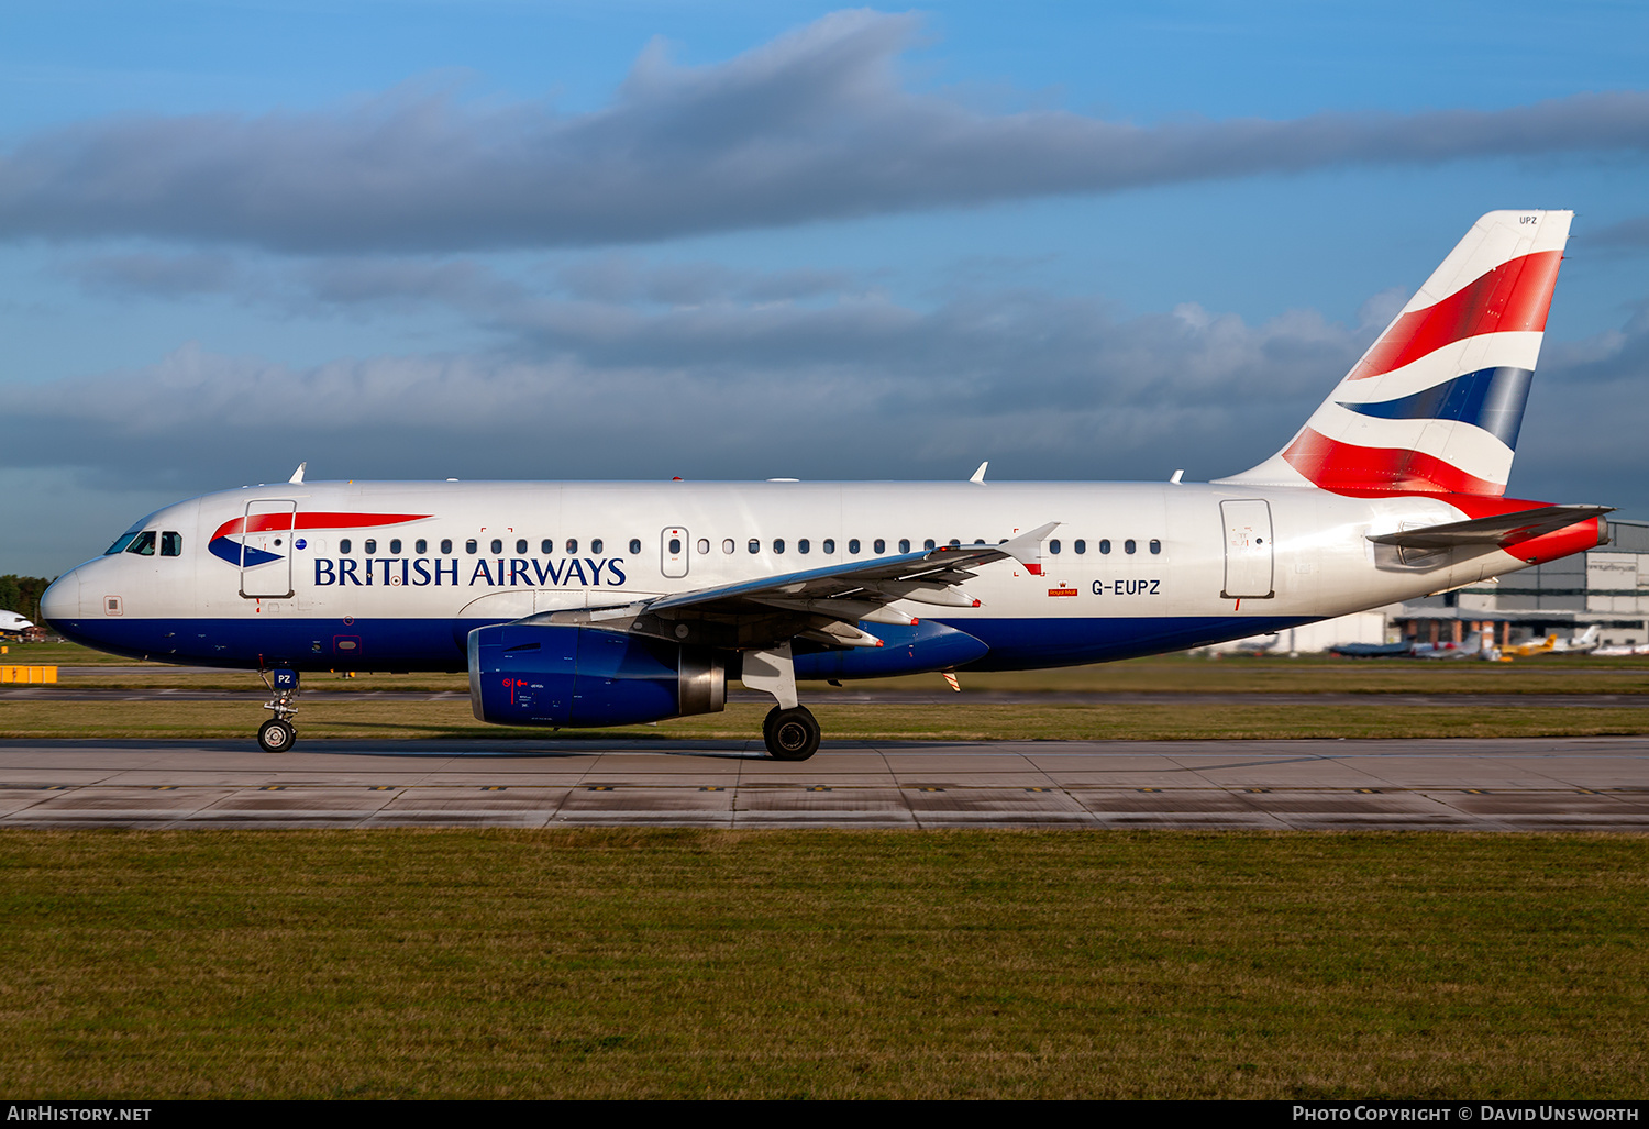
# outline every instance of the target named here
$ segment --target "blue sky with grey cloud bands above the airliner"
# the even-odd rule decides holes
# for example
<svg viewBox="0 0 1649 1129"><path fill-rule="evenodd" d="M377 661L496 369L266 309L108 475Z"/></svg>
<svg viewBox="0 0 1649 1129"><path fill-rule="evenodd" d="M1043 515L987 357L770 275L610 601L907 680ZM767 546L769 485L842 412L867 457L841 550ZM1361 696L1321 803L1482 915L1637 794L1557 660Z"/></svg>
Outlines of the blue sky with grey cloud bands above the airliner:
<svg viewBox="0 0 1649 1129"><path fill-rule="evenodd" d="M0 572L285 478L1210 478L1573 208L1512 493L1649 518L1649 7L3 5Z"/></svg>

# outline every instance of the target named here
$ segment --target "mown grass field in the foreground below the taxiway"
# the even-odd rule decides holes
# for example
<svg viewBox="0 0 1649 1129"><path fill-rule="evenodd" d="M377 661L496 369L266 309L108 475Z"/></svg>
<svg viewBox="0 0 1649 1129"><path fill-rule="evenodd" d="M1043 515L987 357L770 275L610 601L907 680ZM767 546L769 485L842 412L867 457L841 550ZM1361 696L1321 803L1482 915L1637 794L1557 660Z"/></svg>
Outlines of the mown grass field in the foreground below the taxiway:
<svg viewBox="0 0 1649 1129"><path fill-rule="evenodd" d="M0 832L31 1098L1623 1098L1649 839Z"/></svg>

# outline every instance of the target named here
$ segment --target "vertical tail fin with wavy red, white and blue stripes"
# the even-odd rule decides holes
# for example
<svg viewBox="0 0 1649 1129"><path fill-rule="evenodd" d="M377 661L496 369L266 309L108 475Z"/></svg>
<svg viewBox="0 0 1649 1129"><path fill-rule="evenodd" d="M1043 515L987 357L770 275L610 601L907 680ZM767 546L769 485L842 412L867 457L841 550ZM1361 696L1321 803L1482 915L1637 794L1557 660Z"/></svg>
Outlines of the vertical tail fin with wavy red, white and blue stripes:
<svg viewBox="0 0 1649 1129"><path fill-rule="evenodd" d="M1499 498L1570 211L1491 211L1276 455L1217 481Z"/></svg>

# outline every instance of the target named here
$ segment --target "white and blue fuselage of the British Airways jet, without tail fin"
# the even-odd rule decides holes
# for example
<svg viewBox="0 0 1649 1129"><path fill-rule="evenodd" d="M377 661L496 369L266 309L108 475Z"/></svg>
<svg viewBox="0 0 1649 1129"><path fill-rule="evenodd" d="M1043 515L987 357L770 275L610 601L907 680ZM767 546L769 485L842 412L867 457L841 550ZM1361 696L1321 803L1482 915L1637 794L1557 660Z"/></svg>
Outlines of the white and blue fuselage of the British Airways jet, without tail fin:
<svg viewBox="0 0 1649 1129"><path fill-rule="evenodd" d="M249 514L285 524L259 531ZM1273 631L1527 567L1499 549L1403 559L1369 542L1463 516L1441 496L1167 483L280 485L152 514L134 527L155 534L152 552L79 565L43 611L69 638L173 663L460 671L467 633L488 623L928 542L996 544L1057 521L1041 575L1001 560L961 585L980 607L895 605L988 644L973 668L1029 669Z"/></svg>

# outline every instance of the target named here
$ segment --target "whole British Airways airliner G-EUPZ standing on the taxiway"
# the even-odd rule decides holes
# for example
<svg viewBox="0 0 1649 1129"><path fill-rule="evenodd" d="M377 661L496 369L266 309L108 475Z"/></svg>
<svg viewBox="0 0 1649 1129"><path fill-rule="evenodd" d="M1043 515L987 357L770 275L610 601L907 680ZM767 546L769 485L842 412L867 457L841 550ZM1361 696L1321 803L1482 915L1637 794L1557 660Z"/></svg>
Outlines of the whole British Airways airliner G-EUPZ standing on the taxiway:
<svg viewBox="0 0 1649 1129"><path fill-rule="evenodd" d="M143 659L272 677L468 671L475 715L602 727L798 679L1016 671L1235 639L1606 541L1506 498L1571 213L1479 219L1304 427L1210 483L305 483L206 494L61 577L45 616Z"/></svg>

